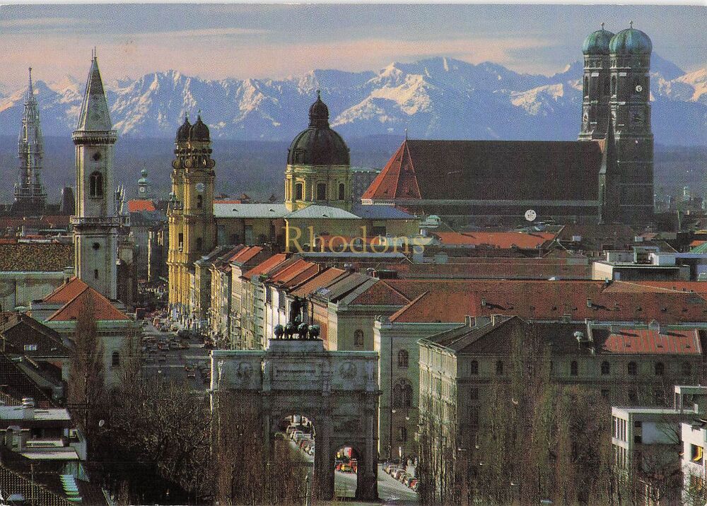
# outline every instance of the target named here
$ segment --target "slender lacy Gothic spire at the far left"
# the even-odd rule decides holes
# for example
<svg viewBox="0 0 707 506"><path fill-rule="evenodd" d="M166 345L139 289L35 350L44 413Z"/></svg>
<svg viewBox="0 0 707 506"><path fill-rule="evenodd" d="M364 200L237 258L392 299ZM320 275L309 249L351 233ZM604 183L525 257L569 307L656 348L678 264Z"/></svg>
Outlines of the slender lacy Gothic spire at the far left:
<svg viewBox="0 0 707 506"><path fill-rule="evenodd" d="M30 67L30 82L25 95L25 112L22 116L22 126L18 136L18 158L20 159L20 174L15 184L15 202L12 214L15 216L39 215L44 212L47 203L47 192L42 184L42 156L44 145L40 112L32 86L32 68Z"/></svg>

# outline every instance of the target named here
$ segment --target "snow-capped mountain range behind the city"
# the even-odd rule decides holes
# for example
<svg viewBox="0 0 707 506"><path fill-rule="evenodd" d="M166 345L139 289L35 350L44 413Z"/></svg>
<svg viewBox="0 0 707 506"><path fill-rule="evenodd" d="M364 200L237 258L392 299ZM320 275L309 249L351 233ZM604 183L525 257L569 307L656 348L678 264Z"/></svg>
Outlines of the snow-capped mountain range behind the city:
<svg viewBox="0 0 707 506"><path fill-rule="evenodd" d="M115 129L122 136L168 138L185 113L198 110L222 139L287 141L308 123L315 90L344 138L380 134L438 139L575 139L580 123L582 64L554 76L438 57L393 63L380 71L315 70L281 80L212 81L177 71L139 79L106 79ZM36 81L45 135L76 124L83 82L66 76ZM16 134L24 90L0 95L0 135ZM653 55L656 142L707 145L707 69L685 73Z"/></svg>

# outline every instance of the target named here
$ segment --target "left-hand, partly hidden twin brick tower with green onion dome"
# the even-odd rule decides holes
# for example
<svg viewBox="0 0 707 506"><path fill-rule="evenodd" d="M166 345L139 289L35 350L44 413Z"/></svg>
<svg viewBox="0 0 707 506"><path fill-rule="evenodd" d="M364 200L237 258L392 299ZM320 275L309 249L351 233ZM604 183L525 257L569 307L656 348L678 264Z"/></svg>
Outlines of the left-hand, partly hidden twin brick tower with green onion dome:
<svg viewBox="0 0 707 506"><path fill-rule="evenodd" d="M580 141L604 139L609 124L609 42L614 34L602 29L584 40L582 129Z"/></svg>

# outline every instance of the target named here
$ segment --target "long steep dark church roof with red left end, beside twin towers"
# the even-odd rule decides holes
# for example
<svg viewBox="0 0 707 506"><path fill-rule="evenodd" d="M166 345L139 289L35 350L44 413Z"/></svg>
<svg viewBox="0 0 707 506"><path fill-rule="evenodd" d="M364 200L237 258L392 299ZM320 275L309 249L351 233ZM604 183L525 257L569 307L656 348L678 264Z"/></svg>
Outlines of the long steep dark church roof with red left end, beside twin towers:
<svg viewBox="0 0 707 506"><path fill-rule="evenodd" d="M362 198L596 200L601 163L595 142L408 140Z"/></svg>

